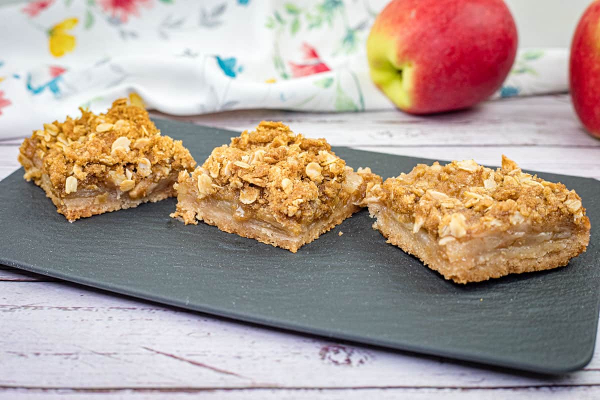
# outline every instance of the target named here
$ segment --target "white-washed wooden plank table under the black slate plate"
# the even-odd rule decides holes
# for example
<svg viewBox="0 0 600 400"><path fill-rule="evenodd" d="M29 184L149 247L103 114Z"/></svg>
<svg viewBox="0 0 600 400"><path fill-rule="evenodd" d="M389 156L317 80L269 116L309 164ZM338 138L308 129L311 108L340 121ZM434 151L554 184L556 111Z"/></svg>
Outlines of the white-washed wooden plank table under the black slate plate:
<svg viewBox="0 0 600 400"><path fill-rule="evenodd" d="M178 119L237 131L274 119L332 145L488 165L506 154L524 169L600 178L600 141L580 128L567 95L430 118L255 110ZM19 144L0 142L0 178L17 169ZM598 399L600 354L581 371L539 377L221 320L0 266L0 398L99 396Z"/></svg>

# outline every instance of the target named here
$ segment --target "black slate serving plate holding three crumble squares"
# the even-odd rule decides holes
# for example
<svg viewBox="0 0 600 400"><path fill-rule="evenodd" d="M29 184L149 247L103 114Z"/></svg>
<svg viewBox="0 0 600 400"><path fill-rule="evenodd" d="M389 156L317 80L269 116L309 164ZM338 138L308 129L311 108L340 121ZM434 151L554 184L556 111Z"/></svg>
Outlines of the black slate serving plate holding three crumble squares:
<svg viewBox="0 0 600 400"><path fill-rule="evenodd" d="M157 125L200 163L237 135ZM335 152L384 177L431 162ZM526 371L560 374L592 357L600 297L593 179L539 174L583 197L592 220L586 253L556 270L457 285L388 245L365 211L292 254L186 226L169 218L174 199L70 224L22 175L0 182L0 262L9 266L243 321Z"/></svg>

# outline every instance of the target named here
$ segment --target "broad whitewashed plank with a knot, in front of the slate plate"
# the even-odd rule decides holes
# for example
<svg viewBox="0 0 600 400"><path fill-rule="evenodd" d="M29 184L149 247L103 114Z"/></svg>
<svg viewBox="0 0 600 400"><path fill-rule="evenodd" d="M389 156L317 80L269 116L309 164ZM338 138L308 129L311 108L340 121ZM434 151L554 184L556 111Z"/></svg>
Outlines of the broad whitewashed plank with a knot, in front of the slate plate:
<svg viewBox="0 0 600 400"><path fill-rule="evenodd" d="M0 282L0 293L0 387L600 385L597 347L583 371L548 379L249 326L74 284Z"/></svg>

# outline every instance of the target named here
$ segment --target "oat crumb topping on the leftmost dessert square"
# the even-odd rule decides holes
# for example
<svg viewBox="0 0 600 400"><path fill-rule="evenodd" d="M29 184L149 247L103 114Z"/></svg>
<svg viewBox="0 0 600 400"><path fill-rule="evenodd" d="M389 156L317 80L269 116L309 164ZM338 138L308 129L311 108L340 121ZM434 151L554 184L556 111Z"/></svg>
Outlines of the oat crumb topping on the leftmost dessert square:
<svg viewBox="0 0 600 400"><path fill-rule="evenodd" d="M45 173L63 195L100 185L131 191L152 173L158 182L172 170L196 166L180 140L161 136L146 110L124 98L116 100L106 114L80 110L80 118L44 124L43 130L25 139L21 154L43 160L41 170L32 169L25 179Z"/></svg>

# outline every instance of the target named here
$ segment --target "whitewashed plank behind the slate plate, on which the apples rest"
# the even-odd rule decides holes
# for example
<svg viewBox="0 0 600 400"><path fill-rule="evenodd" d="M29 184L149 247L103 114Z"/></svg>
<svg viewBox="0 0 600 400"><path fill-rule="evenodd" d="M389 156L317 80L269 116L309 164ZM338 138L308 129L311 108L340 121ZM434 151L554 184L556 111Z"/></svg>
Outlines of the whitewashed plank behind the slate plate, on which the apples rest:
<svg viewBox="0 0 600 400"><path fill-rule="evenodd" d="M156 116L163 116L154 113ZM242 110L176 117L179 121L236 131L261 120L283 121L307 136L337 146L562 146L600 148L587 135L568 95L490 101L473 110L414 116L388 110L370 113L295 113Z"/></svg>

